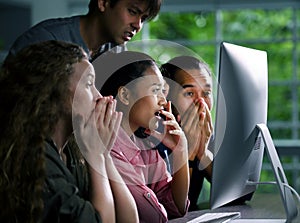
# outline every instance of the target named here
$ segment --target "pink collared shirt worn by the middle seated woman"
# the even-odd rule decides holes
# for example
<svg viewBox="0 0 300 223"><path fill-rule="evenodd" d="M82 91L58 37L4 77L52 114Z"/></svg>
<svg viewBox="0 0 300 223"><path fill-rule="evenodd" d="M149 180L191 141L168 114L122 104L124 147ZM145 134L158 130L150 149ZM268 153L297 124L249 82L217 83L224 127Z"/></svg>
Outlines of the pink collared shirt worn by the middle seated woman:
<svg viewBox="0 0 300 223"><path fill-rule="evenodd" d="M140 222L167 222L168 218L181 217L173 200L172 177L166 163L143 140L147 139L131 140L120 128L111 151L116 168L136 201Z"/></svg>

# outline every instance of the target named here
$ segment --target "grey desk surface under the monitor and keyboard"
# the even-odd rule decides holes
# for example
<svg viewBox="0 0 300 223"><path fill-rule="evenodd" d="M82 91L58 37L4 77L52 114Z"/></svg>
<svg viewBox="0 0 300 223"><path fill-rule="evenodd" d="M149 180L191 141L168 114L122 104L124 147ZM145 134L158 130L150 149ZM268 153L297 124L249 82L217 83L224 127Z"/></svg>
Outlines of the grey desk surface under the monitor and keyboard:
<svg viewBox="0 0 300 223"><path fill-rule="evenodd" d="M246 204L244 205L226 206L214 210L204 209L200 211L193 211L187 213L182 218L172 219L168 222L183 223L207 212L231 212L231 211L241 212L241 218L244 219L255 219L255 218L286 219L284 206L281 202L281 198L279 194L254 193L252 200L250 202L246 202ZM297 219L295 219L293 223L294 222L295 223L300 222L299 214Z"/></svg>

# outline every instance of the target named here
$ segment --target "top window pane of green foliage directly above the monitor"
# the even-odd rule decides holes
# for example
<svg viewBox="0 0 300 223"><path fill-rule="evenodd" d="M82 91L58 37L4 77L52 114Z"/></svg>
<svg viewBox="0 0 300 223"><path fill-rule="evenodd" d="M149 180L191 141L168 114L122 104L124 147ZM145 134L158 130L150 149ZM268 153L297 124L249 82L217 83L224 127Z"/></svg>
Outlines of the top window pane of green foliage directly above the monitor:
<svg viewBox="0 0 300 223"><path fill-rule="evenodd" d="M224 39L268 40L292 37L292 11L238 10L224 11L222 33Z"/></svg>

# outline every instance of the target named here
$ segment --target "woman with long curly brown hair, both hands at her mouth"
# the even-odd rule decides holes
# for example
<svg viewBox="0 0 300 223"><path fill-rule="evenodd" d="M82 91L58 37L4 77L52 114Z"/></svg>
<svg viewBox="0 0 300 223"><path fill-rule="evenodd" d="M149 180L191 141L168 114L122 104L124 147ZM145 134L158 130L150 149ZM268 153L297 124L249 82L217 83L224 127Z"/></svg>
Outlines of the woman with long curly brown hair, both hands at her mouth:
<svg viewBox="0 0 300 223"><path fill-rule="evenodd" d="M110 157L122 114L94 82L88 56L69 43L34 44L4 61L1 222L137 221ZM67 143L73 133L79 147Z"/></svg>

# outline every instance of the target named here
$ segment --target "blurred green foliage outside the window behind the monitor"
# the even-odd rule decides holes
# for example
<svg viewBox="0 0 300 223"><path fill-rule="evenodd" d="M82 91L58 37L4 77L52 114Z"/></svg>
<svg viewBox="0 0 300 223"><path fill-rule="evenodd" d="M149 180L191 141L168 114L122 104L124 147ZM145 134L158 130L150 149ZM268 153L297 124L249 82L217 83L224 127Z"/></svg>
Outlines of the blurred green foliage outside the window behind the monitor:
<svg viewBox="0 0 300 223"><path fill-rule="evenodd" d="M273 139L295 139L295 136L299 139L299 124L292 129L292 120L295 119L293 109L296 109L296 119L300 123L300 10L230 10L218 14L220 20L216 21L216 18L213 11L160 13L149 23L150 38L174 41L188 47L202 57L215 73L221 41L267 51L268 125L281 123L269 126L271 135ZM141 39L141 34L135 39ZM292 159L283 158L282 162L291 163ZM266 157L264 165L269 165ZM286 175L291 181L292 172L287 171ZM269 170L262 171L261 181L274 181L270 166ZM209 187L209 184L204 185L199 202L208 199ZM272 192L274 187L259 187L259 190Z"/></svg>

